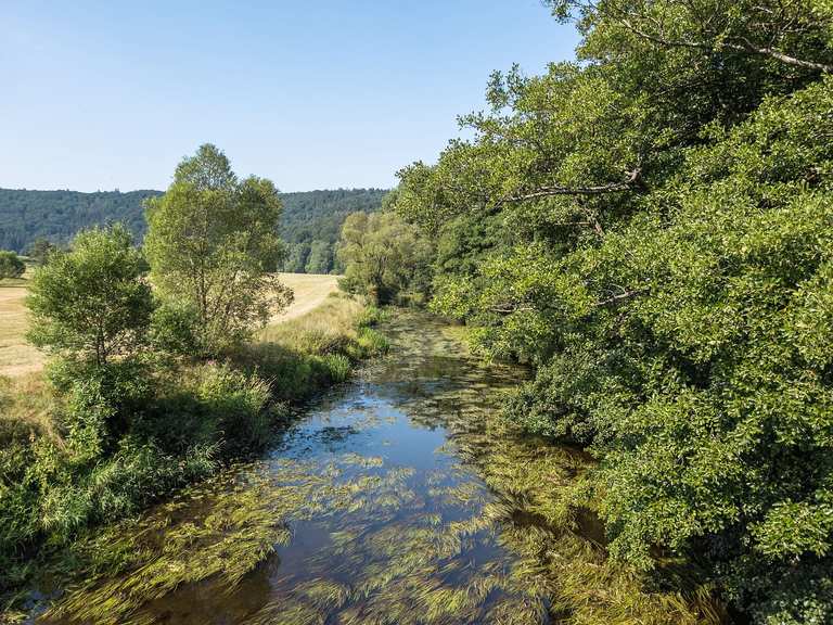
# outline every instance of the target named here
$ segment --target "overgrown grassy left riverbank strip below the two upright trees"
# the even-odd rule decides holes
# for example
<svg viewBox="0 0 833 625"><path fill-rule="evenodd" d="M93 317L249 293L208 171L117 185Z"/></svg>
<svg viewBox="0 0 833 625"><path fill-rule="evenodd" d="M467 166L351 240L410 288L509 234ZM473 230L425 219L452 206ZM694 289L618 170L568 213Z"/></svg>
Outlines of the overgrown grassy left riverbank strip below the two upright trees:
<svg viewBox="0 0 833 625"><path fill-rule="evenodd" d="M0 377L5 617L56 550L264 448L293 404L385 350L373 319L361 299L332 294L215 360L154 354L106 373L64 363Z"/></svg>

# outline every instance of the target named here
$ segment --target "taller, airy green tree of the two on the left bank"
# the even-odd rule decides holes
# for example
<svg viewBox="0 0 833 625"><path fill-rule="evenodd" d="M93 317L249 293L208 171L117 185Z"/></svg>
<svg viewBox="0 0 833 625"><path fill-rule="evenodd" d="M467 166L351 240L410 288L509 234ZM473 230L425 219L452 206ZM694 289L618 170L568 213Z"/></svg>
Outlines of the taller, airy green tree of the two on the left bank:
<svg viewBox="0 0 833 625"><path fill-rule="evenodd" d="M292 297L271 272L283 258L281 201L272 182L239 180L226 155L202 145L177 167L167 192L146 203L144 250L168 299L198 314L210 353L249 336Z"/></svg>

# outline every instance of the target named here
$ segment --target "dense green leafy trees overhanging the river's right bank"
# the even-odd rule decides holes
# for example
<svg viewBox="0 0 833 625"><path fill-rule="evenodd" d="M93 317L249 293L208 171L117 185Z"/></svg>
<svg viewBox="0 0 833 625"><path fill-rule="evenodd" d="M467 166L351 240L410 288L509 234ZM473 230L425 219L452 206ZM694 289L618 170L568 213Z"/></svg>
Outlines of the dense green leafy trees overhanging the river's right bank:
<svg viewBox="0 0 833 625"><path fill-rule="evenodd" d="M831 623L833 5L549 4L578 61L496 73L473 139L345 227L347 275L422 285L534 367L508 414L598 458L573 497L612 558L682 559L755 623ZM400 243L356 227L397 219L432 252L390 278L368 256Z"/></svg>

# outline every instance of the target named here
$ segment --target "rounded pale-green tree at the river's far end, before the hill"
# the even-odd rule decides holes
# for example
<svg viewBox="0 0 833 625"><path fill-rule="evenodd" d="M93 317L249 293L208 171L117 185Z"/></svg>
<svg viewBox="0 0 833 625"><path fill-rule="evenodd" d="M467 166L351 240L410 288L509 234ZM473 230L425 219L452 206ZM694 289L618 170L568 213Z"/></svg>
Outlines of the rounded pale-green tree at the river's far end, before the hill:
<svg viewBox="0 0 833 625"><path fill-rule="evenodd" d="M375 303L421 299L428 288L432 248L413 226L390 212L354 213L342 228L342 286Z"/></svg>

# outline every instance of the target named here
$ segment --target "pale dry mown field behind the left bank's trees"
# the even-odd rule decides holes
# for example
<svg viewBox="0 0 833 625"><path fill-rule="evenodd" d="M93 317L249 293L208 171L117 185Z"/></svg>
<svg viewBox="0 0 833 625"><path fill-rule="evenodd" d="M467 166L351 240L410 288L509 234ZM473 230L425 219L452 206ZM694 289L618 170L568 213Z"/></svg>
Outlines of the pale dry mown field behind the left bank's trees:
<svg viewBox="0 0 833 625"><path fill-rule="evenodd" d="M281 273L281 280L295 292L295 301L270 321L273 327L304 317L338 289L337 276ZM43 367L43 355L26 343L26 281L0 281L0 375L18 378Z"/></svg>

